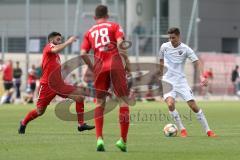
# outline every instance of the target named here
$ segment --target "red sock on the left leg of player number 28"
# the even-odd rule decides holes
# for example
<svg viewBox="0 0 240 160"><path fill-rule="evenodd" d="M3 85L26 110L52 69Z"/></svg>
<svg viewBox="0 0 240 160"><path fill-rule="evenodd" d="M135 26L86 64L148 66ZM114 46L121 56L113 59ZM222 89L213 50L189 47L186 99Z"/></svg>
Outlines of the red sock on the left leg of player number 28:
<svg viewBox="0 0 240 160"><path fill-rule="evenodd" d="M96 137L103 137L102 130L103 130L103 113L104 107L97 106L94 112L94 119L95 119L95 128L96 128Z"/></svg>

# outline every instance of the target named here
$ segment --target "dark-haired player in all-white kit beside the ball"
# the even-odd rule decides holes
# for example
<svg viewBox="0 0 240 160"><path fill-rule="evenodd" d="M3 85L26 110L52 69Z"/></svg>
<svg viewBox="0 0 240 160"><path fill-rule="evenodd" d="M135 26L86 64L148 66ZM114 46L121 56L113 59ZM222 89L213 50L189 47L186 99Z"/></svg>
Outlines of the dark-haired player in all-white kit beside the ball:
<svg viewBox="0 0 240 160"><path fill-rule="evenodd" d="M187 137L187 130L184 127L180 115L175 108L176 96L185 100L188 106L196 114L196 117L206 134L209 137L216 137L214 132L209 128L208 122L203 114L203 111L197 106L192 90L187 83L187 79L184 74L184 65L187 59L190 59L196 66L200 75L203 75L203 68L201 63L194 53L194 51L186 44L180 41L180 30L178 28L170 28L168 30L169 42L163 43L160 51L160 74L162 80L172 85L172 90L168 93L164 93L163 98L168 105L169 113L173 117L176 125L180 129L181 137ZM167 68L167 72L163 75L163 67ZM207 86L207 79L200 76L201 86Z"/></svg>

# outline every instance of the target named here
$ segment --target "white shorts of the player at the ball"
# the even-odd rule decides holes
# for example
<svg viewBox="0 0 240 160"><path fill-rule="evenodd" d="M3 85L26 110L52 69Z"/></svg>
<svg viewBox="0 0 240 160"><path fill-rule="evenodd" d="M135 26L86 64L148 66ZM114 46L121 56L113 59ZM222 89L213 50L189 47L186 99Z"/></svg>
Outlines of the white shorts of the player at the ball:
<svg viewBox="0 0 240 160"><path fill-rule="evenodd" d="M170 92L163 94L164 100L166 100L168 97L176 99L177 96L181 97L186 102L195 99L192 89L189 87L187 82L175 84L172 87L173 89Z"/></svg>

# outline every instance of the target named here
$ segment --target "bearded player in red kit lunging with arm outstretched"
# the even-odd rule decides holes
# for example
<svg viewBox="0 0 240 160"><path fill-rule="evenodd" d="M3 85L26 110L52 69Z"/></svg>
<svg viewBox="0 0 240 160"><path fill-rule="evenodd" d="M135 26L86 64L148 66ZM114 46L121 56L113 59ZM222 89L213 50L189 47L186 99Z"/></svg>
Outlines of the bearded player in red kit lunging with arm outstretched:
<svg viewBox="0 0 240 160"><path fill-rule="evenodd" d="M61 75L61 61L59 52L64 48L72 44L76 40L76 37L72 36L67 41L62 43L62 35L58 32L52 32L48 35L48 44L43 49L42 58L42 77L40 79L40 87L37 99L36 108L30 111L26 117L20 122L20 127L18 129L19 134L24 134L27 124L43 115L47 106L52 101L52 99L59 95L63 98L71 98L76 101L76 112L78 116L78 130L90 130L94 126L89 126L84 123L83 112L84 112L84 99L81 95L74 94L76 87L65 84ZM50 84L50 75L54 74L54 82ZM58 91L52 86L55 86ZM58 93L59 92L59 93Z"/></svg>

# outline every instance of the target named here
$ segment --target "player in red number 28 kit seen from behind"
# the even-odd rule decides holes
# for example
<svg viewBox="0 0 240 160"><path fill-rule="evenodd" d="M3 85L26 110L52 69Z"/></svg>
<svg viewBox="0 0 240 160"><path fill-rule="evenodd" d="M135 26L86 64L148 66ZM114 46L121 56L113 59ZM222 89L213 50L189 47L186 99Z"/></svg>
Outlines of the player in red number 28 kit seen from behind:
<svg viewBox="0 0 240 160"><path fill-rule="evenodd" d="M81 56L94 73L94 87L96 89L95 127L97 138L97 151L105 151L103 142L103 113L106 105L106 94L110 85L115 95L120 99L119 124L121 138L116 146L123 152L127 151L126 142L129 128L129 106L124 99L128 97L126 74L130 73L129 60L126 51L120 54L119 46L124 41L124 33L119 24L108 21L108 8L98 5L95 9L96 24L84 35L81 44ZM87 55L94 51L94 64ZM121 56L122 55L122 56ZM125 66L122 59L125 60Z"/></svg>

